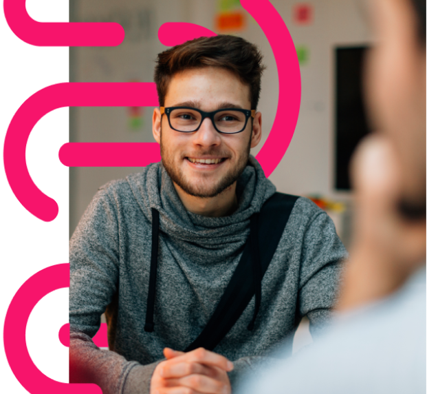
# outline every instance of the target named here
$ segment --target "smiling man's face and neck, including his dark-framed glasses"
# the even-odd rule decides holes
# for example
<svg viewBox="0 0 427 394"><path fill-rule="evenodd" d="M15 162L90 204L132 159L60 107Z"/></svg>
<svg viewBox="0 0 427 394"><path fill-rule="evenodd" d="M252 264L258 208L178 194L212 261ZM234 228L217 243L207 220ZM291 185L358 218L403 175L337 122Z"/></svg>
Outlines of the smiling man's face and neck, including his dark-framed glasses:
<svg viewBox="0 0 427 394"><path fill-rule="evenodd" d="M190 68L173 76L164 105L154 110L153 134L184 207L203 216L232 214L236 181L261 139L261 113L248 110L249 86L225 68Z"/></svg>

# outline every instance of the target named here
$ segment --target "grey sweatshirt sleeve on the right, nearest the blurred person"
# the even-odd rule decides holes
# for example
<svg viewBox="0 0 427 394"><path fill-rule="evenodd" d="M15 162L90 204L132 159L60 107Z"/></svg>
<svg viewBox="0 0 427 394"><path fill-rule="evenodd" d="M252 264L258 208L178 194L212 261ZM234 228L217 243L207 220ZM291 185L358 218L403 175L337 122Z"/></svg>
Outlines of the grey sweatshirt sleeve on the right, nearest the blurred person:
<svg viewBox="0 0 427 394"><path fill-rule="evenodd" d="M347 250L336 234L335 225L325 211L311 202L303 202L305 211L311 211L311 218L304 225L303 245L300 253L300 280L296 312L300 317L307 315L310 333L316 340L331 320L331 309L336 302L340 284L340 273ZM290 336L283 346L292 349ZM250 379L261 378L263 372L283 362L280 353L274 356L241 357L233 362L234 369L228 376L232 393Z"/></svg>

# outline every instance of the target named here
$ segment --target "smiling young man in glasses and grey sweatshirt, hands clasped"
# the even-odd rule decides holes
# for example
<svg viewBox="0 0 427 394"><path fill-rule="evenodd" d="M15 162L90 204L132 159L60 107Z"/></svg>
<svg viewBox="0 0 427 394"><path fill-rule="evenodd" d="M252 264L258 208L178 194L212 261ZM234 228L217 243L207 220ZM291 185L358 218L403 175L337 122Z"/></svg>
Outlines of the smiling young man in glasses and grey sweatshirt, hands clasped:
<svg viewBox="0 0 427 394"><path fill-rule="evenodd" d="M290 196L284 229L271 231L282 211L265 219L276 188L250 156L261 140L262 71L259 51L239 37L195 39L158 56L162 163L102 187L70 241L70 382L104 393L231 393L302 316L314 336L329 320L347 256L333 222ZM238 271L241 261L250 265ZM240 280L232 289L231 278ZM227 308L247 284L252 300L223 330L223 294L231 290ZM105 311L110 351L91 341ZM211 317L216 328L197 342Z"/></svg>

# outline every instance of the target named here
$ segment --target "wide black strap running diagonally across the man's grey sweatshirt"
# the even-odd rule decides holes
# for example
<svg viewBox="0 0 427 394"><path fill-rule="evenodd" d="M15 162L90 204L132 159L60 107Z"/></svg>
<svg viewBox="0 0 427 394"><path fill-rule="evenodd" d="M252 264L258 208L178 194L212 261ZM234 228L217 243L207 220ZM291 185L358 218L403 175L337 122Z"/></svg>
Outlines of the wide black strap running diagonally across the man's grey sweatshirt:
<svg viewBox="0 0 427 394"><path fill-rule="evenodd" d="M261 208L257 217L258 236L256 237L258 238L259 260L261 262L261 272L258 273L261 276L258 278L259 281L270 265L297 199L298 196L275 193ZM253 222L254 220L251 218L251 232L253 231ZM257 278L255 278L256 270L252 269L254 267L252 264L254 248L253 245L252 247L250 245L251 238L251 236L248 237L239 264L208 324L185 351L192 351L199 347L208 350L215 349L215 346L234 326L254 296ZM252 325L253 322L254 320L251 322Z"/></svg>

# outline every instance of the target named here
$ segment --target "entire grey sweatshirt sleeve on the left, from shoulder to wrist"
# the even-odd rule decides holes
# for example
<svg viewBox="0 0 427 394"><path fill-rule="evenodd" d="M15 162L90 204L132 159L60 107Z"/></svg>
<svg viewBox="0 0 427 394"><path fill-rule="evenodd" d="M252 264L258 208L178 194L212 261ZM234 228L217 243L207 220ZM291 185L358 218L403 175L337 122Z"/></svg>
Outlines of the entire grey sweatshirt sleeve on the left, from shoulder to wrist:
<svg viewBox="0 0 427 394"><path fill-rule="evenodd" d="M69 242L69 382L98 384L104 394L148 394L160 361L143 366L91 340L117 290L118 234L114 199L100 189Z"/></svg>

